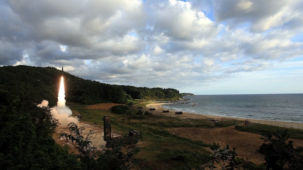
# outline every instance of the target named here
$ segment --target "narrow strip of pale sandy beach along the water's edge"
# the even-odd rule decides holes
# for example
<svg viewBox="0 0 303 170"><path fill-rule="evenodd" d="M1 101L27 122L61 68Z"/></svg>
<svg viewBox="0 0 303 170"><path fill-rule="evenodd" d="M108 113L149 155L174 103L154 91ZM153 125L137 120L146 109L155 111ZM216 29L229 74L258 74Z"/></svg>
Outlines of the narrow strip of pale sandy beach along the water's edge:
<svg viewBox="0 0 303 170"><path fill-rule="evenodd" d="M151 103L147 104L147 108L155 108L156 110L168 110L161 105L172 104L172 103ZM266 124L278 127L287 127L293 129L303 129L303 123L293 123L293 122L282 122L282 121L271 121L271 120L259 120L259 119L250 119L250 118L237 118L237 117L226 117L226 116L215 116L215 115L205 115L199 113L188 113L182 112L182 115L175 115L175 110L169 110L169 113L163 113L163 115L175 116L182 119L218 119L218 120L240 120L245 121L248 120L250 123L258 123L258 124Z"/></svg>

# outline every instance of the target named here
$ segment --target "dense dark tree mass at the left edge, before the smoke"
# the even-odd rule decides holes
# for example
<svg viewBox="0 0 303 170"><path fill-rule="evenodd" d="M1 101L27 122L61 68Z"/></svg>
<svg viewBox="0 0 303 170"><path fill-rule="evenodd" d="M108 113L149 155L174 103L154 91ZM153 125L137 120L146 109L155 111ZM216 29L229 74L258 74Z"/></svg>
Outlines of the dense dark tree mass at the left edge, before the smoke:
<svg viewBox="0 0 303 170"><path fill-rule="evenodd" d="M67 149L52 139L58 122L48 107L38 107L3 86L0 101L1 169L60 169L72 163Z"/></svg>

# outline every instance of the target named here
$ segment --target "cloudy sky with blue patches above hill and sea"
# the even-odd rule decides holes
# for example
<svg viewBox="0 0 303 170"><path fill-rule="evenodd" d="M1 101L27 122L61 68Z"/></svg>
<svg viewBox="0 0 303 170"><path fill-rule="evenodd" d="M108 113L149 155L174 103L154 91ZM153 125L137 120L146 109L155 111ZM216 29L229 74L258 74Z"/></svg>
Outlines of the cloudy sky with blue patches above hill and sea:
<svg viewBox="0 0 303 170"><path fill-rule="evenodd" d="M0 66L194 94L303 93L302 0L2 0Z"/></svg>

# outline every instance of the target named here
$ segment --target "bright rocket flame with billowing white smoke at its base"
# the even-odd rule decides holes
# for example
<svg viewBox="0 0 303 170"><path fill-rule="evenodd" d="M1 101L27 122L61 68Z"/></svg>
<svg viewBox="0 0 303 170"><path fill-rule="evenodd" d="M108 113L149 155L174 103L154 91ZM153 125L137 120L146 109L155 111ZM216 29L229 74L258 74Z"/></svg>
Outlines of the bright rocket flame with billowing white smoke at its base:
<svg viewBox="0 0 303 170"><path fill-rule="evenodd" d="M58 102L57 106L51 108L51 113L55 119L59 120L58 127L66 127L69 123L74 122L76 124L79 123L78 119L75 117L70 117L72 115L72 110L69 109L68 106L65 106L65 89L64 89L64 79L63 76L61 77L60 88L58 93ZM41 104L38 106L47 106L48 101L43 100Z"/></svg>

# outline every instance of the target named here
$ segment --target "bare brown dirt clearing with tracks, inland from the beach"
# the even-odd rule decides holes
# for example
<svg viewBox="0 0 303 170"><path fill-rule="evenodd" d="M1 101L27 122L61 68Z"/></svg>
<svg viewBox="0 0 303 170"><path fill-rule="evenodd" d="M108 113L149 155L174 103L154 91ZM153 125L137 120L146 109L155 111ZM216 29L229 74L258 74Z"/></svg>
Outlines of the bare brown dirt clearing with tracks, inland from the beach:
<svg viewBox="0 0 303 170"><path fill-rule="evenodd" d="M216 129L200 129L198 131L197 139L205 143L219 143L222 147L227 144L232 148L236 148L238 157L248 158L251 162L261 164L264 162L262 155L256 154L256 150L262 145L263 140L261 135L249 132L240 132L234 126ZM193 128L174 128L169 130L171 133L180 137L195 140ZM294 140L294 146L303 146L303 140Z"/></svg>

